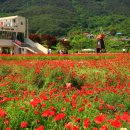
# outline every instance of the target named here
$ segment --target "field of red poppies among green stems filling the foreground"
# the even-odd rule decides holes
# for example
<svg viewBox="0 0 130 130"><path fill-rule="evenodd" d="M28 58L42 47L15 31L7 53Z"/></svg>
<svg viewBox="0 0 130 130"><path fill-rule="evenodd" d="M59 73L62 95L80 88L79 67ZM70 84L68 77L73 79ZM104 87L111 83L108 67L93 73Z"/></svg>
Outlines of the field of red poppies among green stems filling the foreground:
<svg viewBox="0 0 130 130"><path fill-rule="evenodd" d="M0 56L0 130L123 128L129 53Z"/></svg>

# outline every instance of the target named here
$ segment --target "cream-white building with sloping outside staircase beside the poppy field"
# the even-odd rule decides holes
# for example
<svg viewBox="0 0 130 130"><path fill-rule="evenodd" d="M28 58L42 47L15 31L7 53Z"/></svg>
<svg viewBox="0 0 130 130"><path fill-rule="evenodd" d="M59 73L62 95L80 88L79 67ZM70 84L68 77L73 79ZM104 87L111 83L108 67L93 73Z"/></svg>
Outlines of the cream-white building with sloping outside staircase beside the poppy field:
<svg viewBox="0 0 130 130"><path fill-rule="evenodd" d="M0 53L48 53L48 49L28 38L28 22L21 16L0 18Z"/></svg>

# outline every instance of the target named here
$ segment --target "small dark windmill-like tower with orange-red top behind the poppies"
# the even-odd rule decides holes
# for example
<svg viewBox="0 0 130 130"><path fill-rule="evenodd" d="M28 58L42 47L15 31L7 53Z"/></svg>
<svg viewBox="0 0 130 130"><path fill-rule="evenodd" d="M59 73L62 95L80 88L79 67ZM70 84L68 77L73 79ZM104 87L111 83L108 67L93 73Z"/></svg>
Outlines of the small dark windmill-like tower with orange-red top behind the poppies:
<svg viewBox="0 0 130 130"><path fill-rule="evenodd" d="M96 42L96 52L97 53L105 52L104 38L105 38L104 34L100 34L96 38L97 39L97 42Z"/></svg>

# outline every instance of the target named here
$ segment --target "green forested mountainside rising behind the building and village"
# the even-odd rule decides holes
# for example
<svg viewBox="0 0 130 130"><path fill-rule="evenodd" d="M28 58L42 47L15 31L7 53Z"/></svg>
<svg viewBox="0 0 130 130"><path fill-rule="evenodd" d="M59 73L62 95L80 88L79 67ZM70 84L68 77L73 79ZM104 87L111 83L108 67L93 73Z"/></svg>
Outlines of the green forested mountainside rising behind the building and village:
<svg viewBox="0 0 130 130"><path fill-rule="evenodd" d="M130 35L130 0L0 0L0 16L20 15L29 32L66 35L70 30Z"/></svg>

